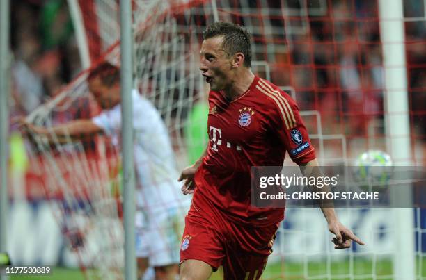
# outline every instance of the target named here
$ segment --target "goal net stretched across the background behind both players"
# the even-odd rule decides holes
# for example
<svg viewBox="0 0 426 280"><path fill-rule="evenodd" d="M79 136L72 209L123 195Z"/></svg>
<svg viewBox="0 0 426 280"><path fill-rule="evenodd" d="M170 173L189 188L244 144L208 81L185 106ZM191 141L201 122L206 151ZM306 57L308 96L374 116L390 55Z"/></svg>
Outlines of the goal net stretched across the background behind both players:
<svg viewBox="0 0 426 280"><path fill-rule="evenodd" d="M424 101L426 81L420 61L425 13L413 7L418 3L405 4L411 102L408 137L413 147L407 157L424 165L424 108L419 102ZM118 2L79 0L79 8L83 21L74 24L86 33L88 43L80 47L89 50L92 65L102 60L118 64ZM192 163L207 145L208 87L199 73L198 53L205 26L217 20L242 24L251 32L253 72L297 100L322 165L350 165L368 149L386 151L383 104L391 92L385 90L383 78L377 1L134 0L132 8L134 49L123 51L133 53L135 88L161 113L180 167ZM56 110L94 115L86 75L83 72L51 105L37 110L31 121L54 122ZM90 110L77 110L76 104L86 104ZM64 198L58 220L65 235L80 250L81 258L90 258L90 265L81 261L82 267L119 270L123 229L114 183L119 151L108 139L75 142L70 138L57 139L54 145L36 138L34 151L40 170L51 175L48 194ZM416 235L416 277L423 279L424 213L420 208L413 211L409 231ZM336 251L318 209L287 209L262 279L393 279L393 257L399 254L393 240L398 233L388 213L389 209L381 208L338 209L341 222L367 245ZM110 244L100 248L96 236L104 231ZM79 244L79 236L89 234L93 239ZM110 254L96 254L107 247Z"/></svg>

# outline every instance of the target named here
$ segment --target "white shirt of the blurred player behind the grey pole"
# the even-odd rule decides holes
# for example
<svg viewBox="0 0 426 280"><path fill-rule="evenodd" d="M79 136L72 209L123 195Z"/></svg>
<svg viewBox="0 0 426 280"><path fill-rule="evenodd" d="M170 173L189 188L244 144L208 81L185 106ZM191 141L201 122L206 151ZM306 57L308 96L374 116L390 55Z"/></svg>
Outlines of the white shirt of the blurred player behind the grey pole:
<svg viewBox="0 0 426 280"><path fill-rule="evenodd" d="M132 90L134 163L138 205L173 207L182 199L176 181L175 155L166 125L156 108L137 90ZM93 122L118 144L121 132L121 106L103 110Z"/></svg>

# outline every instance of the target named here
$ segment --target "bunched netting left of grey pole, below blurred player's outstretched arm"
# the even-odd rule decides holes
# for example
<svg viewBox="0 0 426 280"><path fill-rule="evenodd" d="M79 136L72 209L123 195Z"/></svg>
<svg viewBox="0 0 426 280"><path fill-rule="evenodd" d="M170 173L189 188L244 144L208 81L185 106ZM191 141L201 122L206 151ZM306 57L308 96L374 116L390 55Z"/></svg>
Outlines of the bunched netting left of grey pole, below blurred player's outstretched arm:
<svg viewBox="0 0 426 280"><path fill-rule="evenodd" d="M55 99L38 108L28 120L42 126L90 117L86 73ZM99 139L31 135L31 164L42 174L53 213L86 277L118 279L123 267L123 227L120 222L119 160L113 145Z"/></svg>

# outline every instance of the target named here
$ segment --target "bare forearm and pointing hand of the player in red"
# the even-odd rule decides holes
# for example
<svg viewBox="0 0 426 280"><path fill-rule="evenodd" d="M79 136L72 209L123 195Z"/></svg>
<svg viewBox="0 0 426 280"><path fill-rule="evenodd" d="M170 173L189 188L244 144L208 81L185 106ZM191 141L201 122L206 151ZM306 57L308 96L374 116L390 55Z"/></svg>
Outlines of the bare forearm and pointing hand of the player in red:
<svg viewBox="0 0 426 280"><path fill-rule="evenodd" d="M303 176L322 176L322 172L319 169L318 160L315 158L310 160L308 163L299 165ZM329 191L329 186L324 186L322 192ZM329 203L328 203L329 202ZM336 211L334 211L333 204L330 201L325 201L324 205L321 206L322 213L326 218L329 226L329 231L334 234L334 238L331 240L334 243L335 249L346 249L351 247L351 242L354 240L359 245L365 243L358 238L350 229L347 229L341 222L339 222Z"/></svg>

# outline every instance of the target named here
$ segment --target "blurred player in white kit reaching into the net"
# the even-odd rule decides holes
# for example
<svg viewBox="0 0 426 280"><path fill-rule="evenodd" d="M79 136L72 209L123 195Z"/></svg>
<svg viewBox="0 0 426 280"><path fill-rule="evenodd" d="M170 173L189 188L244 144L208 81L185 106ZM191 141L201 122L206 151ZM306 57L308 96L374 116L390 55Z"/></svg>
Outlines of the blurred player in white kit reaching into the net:
<svg viewBox="0 0 426 280"><path fill-rule="evenodd" d="M45 129L25 123L34 133L84 138L109 135L120 145L120 69L102 63L88 76L88 88L103 109L100 115ZM166 126L156 108L137 90L132 91L134 165L136 169L136 256L139 279L148 267L156 279L178 275L181 224L189 201L181 195L176 179L175 155ZM53 132L53 133L52 133ZM144 279L147 279L145 277Z"/></svg>

